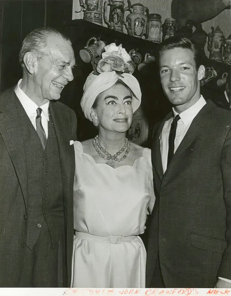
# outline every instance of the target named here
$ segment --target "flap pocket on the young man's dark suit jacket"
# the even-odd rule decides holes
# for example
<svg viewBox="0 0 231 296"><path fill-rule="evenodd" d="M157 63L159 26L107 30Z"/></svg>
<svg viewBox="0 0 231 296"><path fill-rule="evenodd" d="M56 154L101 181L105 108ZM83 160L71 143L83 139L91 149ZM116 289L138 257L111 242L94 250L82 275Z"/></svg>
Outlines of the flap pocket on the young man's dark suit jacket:
<svg viewBox="0 0 231 296"><path fill-rule="evenodd" d="M209 252L223 254L227 243L225 240L221 240L214 237L206 237L196 233L190 233L191 245L196 249L202 249Z"/></svg>

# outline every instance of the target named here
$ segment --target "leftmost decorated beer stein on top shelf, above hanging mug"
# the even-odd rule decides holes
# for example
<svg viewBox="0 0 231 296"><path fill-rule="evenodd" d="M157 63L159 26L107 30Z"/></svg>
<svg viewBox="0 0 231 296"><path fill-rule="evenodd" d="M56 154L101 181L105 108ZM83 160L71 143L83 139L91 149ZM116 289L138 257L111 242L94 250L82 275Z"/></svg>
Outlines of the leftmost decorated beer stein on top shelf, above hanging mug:
<svg viewBox="0 0 231 296"><path fill-rule="evenodd" d="M91 21L97 25L103 25L103 0L80 0L81 10L76 13L84 11L83 19Z"/></svg>

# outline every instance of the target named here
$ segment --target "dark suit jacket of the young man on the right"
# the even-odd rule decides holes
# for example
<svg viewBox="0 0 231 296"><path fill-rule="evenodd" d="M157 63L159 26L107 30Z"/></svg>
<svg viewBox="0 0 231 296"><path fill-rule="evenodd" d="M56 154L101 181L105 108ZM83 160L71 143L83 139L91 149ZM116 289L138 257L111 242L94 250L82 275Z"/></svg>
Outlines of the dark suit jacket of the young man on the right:
<svg viewBox="0 0 231 296"><path fill-rule="evenodd" d="M154 132L146 284L159 249L166 287L214 287L231 279L231 115L208 101L163 174L159 137L170 116Z"/></svg>

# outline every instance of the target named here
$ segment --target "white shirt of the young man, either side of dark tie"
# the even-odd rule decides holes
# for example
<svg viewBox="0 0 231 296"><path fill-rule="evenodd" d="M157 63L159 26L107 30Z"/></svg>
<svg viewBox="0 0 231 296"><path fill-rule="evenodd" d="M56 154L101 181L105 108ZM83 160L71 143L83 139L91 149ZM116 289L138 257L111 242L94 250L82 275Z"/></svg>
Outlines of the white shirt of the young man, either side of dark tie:
<svg viewBox="0 0 231 296"><path fill-rule="evenodd" d="M190 108L186 109L185 111L181 112L180 119L177 123L176 129L176 136L175 136L175 145L174 145L174 153L177 150L178 146L180 145L182 139L186 135L190 124L194 120L194 117L198 114L198 112L204 107L206 104L205 99L201 95L199 100ZM177 112L173 109L174 118L177 116ZM164 123L161 135L160 135L160 151L161 151L161 158L162 158L162 166L163 172L166 171L167 168L167 160L168 160L168 137L170 133L170 127L173 122L173 118L171 117Z"/></svg>

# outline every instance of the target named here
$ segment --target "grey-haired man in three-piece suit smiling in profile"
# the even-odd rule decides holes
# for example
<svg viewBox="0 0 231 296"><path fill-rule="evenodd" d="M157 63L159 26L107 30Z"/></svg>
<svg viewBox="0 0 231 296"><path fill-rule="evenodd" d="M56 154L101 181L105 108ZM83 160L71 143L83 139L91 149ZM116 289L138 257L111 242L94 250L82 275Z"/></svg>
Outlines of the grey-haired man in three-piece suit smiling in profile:
<svg viewBox="0 0 231 296"><path fill-rule="evenodd" d="M70 285L76 115L57 102L74 52L53 28L30 32L23 78L0 98L0 286Z"/></svg>

